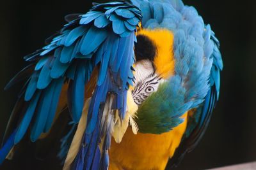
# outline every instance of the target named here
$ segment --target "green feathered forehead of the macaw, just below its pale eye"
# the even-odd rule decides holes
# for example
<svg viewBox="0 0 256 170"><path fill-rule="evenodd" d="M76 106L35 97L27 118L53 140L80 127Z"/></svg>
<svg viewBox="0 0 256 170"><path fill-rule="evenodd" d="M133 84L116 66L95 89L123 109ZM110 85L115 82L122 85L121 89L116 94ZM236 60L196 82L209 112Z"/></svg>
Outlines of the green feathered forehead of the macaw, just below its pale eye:
<svg viewBox="0 0 256 170"><path fill-rule="evenodd" d="M177 101L168 101L172 95L169 88L168 82L159 85L157 92L152 93L139 107L136 123L141 133L169 132L184 122L182 118L173 115L173 104Z"/></svg>

